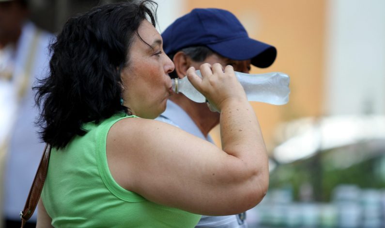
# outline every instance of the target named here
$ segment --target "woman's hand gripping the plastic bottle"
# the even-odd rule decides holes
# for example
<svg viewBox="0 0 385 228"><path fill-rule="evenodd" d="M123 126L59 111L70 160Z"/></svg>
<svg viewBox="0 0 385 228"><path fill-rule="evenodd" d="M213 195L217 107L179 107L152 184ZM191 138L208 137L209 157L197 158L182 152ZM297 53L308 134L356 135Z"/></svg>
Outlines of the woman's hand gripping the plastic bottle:
<svg viewBox="0 0 385 228"><path fill-rule="evenodd" d="M220 112L223 103L228 99L247 100L231 65L227 65L223 70L220 64L202 64L200 73L202 78L196 74L194 67L190 67L187 70L187 78L210 102L211 110Z"/></svg>

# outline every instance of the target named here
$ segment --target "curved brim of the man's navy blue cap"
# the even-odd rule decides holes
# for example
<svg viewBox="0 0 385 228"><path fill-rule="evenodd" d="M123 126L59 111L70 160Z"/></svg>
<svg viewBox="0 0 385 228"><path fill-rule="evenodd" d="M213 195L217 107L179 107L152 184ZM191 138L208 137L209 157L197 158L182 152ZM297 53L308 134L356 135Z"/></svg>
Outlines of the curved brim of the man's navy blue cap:
<svg viewBox="0 0 385 228"><path fill-rule="evenodd" d="M208 44L207 47L220 55L233 60L251 60L251 64L260 68L272 65L277 57L277 49L248 37Z"/></svg>

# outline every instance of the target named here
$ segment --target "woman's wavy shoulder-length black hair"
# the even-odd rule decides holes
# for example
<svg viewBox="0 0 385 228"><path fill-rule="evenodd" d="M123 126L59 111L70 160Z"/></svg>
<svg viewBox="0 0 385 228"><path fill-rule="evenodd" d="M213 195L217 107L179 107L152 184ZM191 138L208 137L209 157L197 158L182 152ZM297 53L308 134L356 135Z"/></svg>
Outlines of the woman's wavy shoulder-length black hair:
<svg viewBox="0 0 385 228"><path fill-rule="evenodd" d="M33 88L44 142L63 148L87 132L84 123L131 114L120 102L121 70L140 23L149 18L155 27L156 7L152 0L108 4L65 23L49 47L49 75Z"/></svg>

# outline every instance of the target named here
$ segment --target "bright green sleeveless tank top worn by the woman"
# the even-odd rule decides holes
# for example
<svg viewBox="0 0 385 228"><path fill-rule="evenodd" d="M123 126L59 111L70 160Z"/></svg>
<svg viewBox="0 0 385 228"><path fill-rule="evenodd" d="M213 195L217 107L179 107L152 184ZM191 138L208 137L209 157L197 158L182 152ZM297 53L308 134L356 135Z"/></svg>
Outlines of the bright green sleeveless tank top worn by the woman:
<svg viewBox="0 0 385 228"><path fill-rule="evenodd" d="M188 228L200 215L155 204L123 189L112 178L106 155L107 133L122 118L116 114L64 149L52 149L42 199L54 227ZM127 177L129 178L129 177ZM155 179L156 177L154 177Z"/></svg>

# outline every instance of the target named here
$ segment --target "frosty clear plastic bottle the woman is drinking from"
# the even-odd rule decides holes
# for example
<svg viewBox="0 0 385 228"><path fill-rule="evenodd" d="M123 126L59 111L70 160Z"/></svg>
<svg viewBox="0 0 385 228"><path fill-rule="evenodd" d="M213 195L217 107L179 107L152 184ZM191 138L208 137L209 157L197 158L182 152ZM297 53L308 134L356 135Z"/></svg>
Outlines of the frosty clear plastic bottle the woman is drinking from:
<svg viewBox="0 0 385 228"><path fill-rule="evenodd" d="M200 76L200 70L196 73ZM264 74L246 74L235 71L235 76L245 89L248 101L259 101L274 105L286 104L289 101L289 82L287 74L271 72ZM188 81L183 79L172 80L172 90L175 93L183 93L187 98L195 102L205 102L206 98Z"/></svg>

